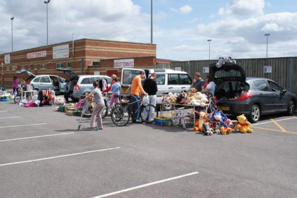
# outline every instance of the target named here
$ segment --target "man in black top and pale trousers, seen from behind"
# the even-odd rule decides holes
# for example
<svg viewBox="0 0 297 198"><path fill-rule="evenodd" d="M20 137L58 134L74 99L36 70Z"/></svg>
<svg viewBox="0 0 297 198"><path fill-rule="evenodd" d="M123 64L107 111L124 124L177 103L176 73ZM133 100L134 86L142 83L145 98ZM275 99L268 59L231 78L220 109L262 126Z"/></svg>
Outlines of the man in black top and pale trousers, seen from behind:
<svg viewBox="0 0 297 198"><path fill-rule="evenodd" d="M152 73L151 76L149 77L149 79L146 79L144 81L144 85L143 85L143 89L145 92L147 92L149 94L149 104L156 106L156 102L157 102L157 91L158 91L158 87L157 87L157 82L155 81L157 77L156 73ZM153 121L153 115L154 115L154 109L150 108L149 112L149 121ZM146 111L143 112L143 117L147 117L146 115Z"/></svg>

